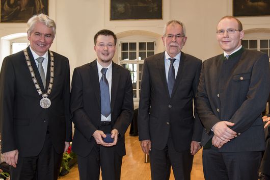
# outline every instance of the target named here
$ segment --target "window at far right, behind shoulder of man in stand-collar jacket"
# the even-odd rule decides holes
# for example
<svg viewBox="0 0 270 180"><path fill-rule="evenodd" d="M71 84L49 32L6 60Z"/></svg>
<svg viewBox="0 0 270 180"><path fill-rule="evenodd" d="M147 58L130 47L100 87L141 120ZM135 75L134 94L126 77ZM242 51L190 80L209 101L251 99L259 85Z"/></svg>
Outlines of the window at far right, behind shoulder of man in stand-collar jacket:
<svg viewBox="0 0 270 180"><path fill-rule="evenodd" d="M242 40L242 46L244 46L246 49L259 50L266 53L268 56L270 55L270 39Z"/></svg>

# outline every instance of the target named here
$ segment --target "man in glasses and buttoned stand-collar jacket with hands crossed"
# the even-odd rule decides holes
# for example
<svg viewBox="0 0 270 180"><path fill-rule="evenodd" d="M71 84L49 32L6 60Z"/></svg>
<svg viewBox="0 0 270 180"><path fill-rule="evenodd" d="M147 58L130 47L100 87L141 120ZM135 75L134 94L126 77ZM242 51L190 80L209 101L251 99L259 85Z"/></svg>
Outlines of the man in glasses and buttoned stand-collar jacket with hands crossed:
<svg viewBox="0 0 270 180"><path fill-rule="evenodd" d="M241 46L241 22L223 17L217 40L224 53L203 62L197 112L206 180L258 179L264 132L261 112L269 95L268 56Z"/></svg>

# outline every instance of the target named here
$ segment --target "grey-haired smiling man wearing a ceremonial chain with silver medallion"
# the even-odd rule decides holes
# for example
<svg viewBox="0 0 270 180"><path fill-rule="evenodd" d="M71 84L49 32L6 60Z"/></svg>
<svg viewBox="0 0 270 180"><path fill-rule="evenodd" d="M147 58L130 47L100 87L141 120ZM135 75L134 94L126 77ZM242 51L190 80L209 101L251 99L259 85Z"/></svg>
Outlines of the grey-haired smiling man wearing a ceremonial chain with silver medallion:
<svg viewBox="0 0 270 180"><path fill-rule="evenodd" d="M39 14L27 25L30 46L6 57L0 74L2 152L12 180L57 179L72 140L69 62L49 50L52 19Z"/></svg>

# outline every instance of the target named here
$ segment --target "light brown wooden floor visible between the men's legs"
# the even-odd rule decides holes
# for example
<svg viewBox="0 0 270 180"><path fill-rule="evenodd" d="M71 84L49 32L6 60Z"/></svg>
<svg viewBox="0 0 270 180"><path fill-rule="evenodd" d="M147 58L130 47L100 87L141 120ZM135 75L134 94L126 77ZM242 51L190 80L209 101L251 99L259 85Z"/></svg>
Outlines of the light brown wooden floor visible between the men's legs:
<svg viewBox="0 0 270 180"><path fill-rule="evenodd" d="M150 163L144 163L145 156L141 150L138 136L132 137L126 133L125 140L126 156L123 157L121 180L150 180ZM70 170L69 174L59 177L59 179L79 180L78 166L75 165ZM170 180L173 179L173 172L171 171ZM194 157L191 180L204 180L202 170L202 150L200 150Z"/></svg>

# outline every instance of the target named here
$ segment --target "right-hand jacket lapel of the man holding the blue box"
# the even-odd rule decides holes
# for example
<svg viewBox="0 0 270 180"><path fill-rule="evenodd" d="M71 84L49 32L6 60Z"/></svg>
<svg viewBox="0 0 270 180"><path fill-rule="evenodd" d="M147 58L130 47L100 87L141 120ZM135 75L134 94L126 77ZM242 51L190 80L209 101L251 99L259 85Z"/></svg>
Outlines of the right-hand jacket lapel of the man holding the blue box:
<svg viewBox="0 0 270 180"><path fill-rule="evenodd" d="M118 84L120 79L119 74L119 67L116 67L115 63L113 62L112 65L112 87L111 87L111 111L114 109L114 104L116 100L117 90L118 90Z"/></svg>

